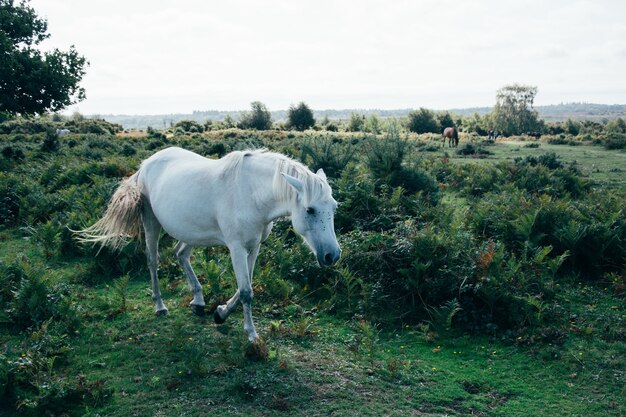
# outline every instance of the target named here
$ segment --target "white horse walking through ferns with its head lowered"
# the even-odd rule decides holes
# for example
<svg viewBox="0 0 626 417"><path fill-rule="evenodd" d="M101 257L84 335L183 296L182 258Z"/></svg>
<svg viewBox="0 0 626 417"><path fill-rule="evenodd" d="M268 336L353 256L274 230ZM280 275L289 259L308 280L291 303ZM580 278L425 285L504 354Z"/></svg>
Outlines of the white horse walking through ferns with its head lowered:
<svg viewBox="0 0 626 417"><path fill-rule="evenodd" d="M202 287L189 258L197 246L228 247L237 292L217 308L222 323L240 300L244 330L258 338L252 321L252 273L259 247L273 221L291 216L294 230L320 265L341 255L334 227L337 202L323 170L311 172L288 157L265 150L237 151L211 160L180 148L159 151L122 181L102 219L79 231L79 240L121 248L145 233L152 298L157 315L167 314L157 279L158 241L163 228L178 240L175 252L193 293L192 309L204 312Z"/></svg>

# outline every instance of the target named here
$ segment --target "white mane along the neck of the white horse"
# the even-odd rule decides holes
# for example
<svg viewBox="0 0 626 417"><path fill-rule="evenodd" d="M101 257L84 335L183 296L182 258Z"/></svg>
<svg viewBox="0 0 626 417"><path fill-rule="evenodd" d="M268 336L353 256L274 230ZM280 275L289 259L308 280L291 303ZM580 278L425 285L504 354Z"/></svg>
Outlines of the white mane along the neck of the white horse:
<svg viewBox="0 0 626 417"><path fill-rule="evenodd" d="M290 157L277 153L270 152L267 149L254 149L247 151L235 151L231 152L222 158L224 162L223 175L236 177L241 171L243 161L245 158L263 158L270 160L274 163L274 177L272 179L272 189L274 195L280 201L290 201L295 198L296 193L293 187L291 187L282 173L291 175L302 181L304 185L304 204L310 201L318 199L326 199L331 195L330 186L326 181L315 175L304 164L291 159Z"/></svg>

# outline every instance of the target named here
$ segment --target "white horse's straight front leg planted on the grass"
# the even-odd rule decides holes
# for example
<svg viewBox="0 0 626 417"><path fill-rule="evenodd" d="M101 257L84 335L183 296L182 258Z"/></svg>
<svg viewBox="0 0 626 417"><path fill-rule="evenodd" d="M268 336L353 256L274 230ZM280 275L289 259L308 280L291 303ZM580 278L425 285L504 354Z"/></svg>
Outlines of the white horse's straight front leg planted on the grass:
<svg viewBox="0 0 626 417"><path fill-rule="evenodd" d="M248 334L248 340L250 342L255 342L259 338L252 320L253 293L250 279L252 266L248 263L250 255L255 253L258 254L258 245L251 251L246 250L246 248L240 244L235 244L230 247L230 257L233 262L235 277L237 278L237 291L239 292L239 300L243 306L243 329ZM253 256L253 258L256 260L256 255Z"/></svg>

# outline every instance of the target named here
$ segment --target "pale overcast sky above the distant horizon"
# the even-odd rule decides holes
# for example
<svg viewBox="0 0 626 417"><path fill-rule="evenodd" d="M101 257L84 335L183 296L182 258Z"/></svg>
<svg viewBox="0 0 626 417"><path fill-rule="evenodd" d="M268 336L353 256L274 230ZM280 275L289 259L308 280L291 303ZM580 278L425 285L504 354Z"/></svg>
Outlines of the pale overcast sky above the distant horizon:
<svg viewBox="0 0 626 417"><path fill-rule="evenodd" d="M624 0L31 0L90 62L84 114L626 103Z"/></svg>

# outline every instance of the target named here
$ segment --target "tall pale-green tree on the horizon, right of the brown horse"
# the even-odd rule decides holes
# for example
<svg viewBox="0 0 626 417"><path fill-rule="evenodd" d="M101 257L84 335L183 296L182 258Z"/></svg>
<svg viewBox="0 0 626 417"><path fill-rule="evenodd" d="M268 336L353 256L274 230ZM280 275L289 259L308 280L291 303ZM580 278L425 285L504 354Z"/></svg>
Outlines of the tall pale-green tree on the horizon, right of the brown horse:
<svg viewBox="0 0 626 417"><path fill-rule="evenodd" d="M493 108L494 128L504 135L520 135L541 130L538 113L533 110L537 87L521 84L506 85L496 94Z"/></svg>

